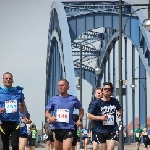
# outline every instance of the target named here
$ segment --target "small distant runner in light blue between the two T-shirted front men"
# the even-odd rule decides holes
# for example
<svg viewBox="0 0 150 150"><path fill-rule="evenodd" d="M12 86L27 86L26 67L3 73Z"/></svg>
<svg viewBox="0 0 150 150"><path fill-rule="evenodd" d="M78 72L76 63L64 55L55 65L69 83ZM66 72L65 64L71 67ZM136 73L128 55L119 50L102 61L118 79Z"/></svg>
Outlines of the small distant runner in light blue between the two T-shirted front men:
<svg viewBox="0 0 150 150"><path fill-rule="evenodd" d="M84 150L87 150L88 134L89 134L89 129L87 129L86 125L84 125L83 129L81 130L82 143L83 143Z"/></svg>

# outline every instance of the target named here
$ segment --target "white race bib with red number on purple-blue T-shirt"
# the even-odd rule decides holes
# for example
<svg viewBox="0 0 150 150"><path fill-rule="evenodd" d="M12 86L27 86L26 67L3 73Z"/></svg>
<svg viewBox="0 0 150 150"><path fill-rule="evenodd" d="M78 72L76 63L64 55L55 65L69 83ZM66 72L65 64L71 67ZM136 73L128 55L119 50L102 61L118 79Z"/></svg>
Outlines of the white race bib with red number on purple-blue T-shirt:
<svg viewBox="0 0 150 150"><path fill-rule="evenodd" d="M57 119L57 122L69 123L69 110L68 109L57 109L56 119Z"/></svg>

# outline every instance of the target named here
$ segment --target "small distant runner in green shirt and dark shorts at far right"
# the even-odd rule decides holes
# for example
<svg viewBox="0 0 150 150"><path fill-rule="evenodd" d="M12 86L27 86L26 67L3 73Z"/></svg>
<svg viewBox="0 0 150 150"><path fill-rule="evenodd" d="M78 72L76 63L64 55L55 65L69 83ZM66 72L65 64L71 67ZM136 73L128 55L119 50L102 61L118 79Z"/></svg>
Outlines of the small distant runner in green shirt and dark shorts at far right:
<svg viewBox="0 0 150 150"><path fill-rule="evenodd" d="M136 148L137 150L139 150L140 147L140 136L142 133L142 129L140 129L140 125L137 124L137 128L134 130L134 134L135 134L135 142L136 142Z"/></svg>

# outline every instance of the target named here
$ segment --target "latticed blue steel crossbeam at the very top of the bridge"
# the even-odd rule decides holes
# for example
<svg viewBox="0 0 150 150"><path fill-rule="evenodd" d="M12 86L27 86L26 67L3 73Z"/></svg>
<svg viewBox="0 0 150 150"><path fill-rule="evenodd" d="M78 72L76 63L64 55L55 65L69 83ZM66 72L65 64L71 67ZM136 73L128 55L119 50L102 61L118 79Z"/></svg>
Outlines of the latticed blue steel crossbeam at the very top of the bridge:
<svg viewBox="0 0 150 150"><path fill-rule="evenodd" d="M126 2L123 2L125 4ZM63 2L67 17L75 17L77 15L98 12L119 12L118 1L76 1L76 2ZM130 7L123 8L124 14L129 14Z"/></svg>

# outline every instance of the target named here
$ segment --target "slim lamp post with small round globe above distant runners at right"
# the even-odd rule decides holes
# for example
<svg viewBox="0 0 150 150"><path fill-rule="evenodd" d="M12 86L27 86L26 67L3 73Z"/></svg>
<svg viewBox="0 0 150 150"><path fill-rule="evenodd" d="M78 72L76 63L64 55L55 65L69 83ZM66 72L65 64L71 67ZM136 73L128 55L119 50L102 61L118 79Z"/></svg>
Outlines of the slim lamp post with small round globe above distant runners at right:
<svg viewBox="0 0 150 150"><path fill-rule="evenodd" d="M145 79L145 86L144 86L143 82L140 81L140 79ZM135 80L139 80L141 82L141 84L143 85L143 89L145 91L145 128L147 128L147 78L132 78L132 84L130 85L130 87L133 90L136 87L135 82L134 82Z"/></svg>

